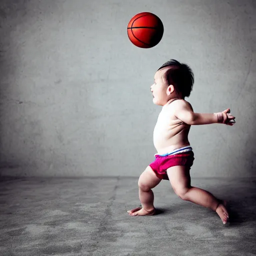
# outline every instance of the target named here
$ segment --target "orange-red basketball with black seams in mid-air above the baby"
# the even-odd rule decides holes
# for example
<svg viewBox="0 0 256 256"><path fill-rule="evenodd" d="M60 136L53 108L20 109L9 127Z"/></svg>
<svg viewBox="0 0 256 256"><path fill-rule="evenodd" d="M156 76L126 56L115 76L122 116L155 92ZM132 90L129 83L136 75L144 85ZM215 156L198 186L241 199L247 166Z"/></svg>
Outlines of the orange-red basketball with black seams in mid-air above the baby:
<svg viewBox="0 0 256 256"><path fill-rule="evenodd" d="M162 38L163 24L159 17L150 12L134 15L127 26L130 41L140 48L151 48Z"/></svg>

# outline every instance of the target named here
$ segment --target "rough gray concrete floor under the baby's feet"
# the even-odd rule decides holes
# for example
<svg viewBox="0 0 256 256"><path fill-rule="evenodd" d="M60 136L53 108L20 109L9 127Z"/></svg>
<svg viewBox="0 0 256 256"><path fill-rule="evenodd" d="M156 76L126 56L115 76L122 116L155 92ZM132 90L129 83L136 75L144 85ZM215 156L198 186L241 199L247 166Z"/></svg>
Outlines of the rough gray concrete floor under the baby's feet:
<svg viewBox="0 0 256 256"><path fill-rule="evenodd" d="M226 199L230 224L183 201L164 180L158 214L131 217L137 178L17 178L0 181L0 255L256 255L256 179L193 179Z"/></svg>

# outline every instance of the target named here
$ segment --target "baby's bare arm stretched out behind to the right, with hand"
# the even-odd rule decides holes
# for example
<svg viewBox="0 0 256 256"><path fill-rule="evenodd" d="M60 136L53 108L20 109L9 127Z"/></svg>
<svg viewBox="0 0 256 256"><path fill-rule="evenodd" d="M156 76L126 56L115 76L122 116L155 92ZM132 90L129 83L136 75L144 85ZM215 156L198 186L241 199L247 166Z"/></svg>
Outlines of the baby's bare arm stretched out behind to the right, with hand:
<svg viewBox="0 0 256 256"><path fill-rule="evenodd" d="M229 108L217 113L194 113L188 104L181 103L177 105L175 116L184 123L190 125L210 123L224 123L227 125L233 125L235 123L235 117L229 113Z"/></svg>

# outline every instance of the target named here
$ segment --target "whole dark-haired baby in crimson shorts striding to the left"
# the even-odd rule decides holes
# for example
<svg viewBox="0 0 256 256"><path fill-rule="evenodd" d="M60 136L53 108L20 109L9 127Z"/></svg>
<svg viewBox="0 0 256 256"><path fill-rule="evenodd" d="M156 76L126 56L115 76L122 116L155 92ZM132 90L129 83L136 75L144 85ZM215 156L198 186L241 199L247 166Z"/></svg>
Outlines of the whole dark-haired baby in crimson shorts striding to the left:
<svg viewBox="0 0 256 256"><path fill-rule="evenodd" d="M138 190L142 207L128 210L131 216L149 216L155 213L151 189L162 179L166 179L181 199L216 211L223 224L228 221L226 201L190 185L189 170L194 154L188 141L188 132L191 125L233 125L235 117L229 114L229 108L217 113L193 112L190 103L184 99L190 95L193 82L191 68L175 59L165 62L155 73L150 89L153 103L162 106L153 132L157 154L155 160L139 176Z"/></svg>

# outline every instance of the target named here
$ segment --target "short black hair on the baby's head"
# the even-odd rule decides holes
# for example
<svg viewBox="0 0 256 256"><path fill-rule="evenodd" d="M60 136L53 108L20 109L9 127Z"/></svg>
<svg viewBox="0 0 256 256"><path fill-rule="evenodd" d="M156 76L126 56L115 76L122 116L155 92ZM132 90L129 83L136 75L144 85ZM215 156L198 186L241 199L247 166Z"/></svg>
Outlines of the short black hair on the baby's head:
<svg viewBox="0 0 256 256"><path fill-rule="evenodd" d="M194 74L192 69L185 63L180 63L175 59L170 59L162 64L158 70L167 66L173 68L168 69L164 74L166 81L173 83L176 89L181 92L183 98L188 97L192 91L194 83Z"/></svg>

